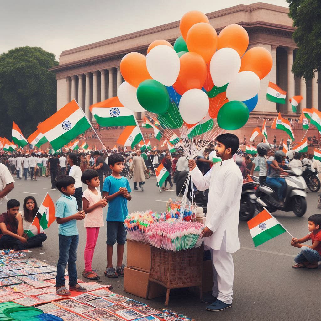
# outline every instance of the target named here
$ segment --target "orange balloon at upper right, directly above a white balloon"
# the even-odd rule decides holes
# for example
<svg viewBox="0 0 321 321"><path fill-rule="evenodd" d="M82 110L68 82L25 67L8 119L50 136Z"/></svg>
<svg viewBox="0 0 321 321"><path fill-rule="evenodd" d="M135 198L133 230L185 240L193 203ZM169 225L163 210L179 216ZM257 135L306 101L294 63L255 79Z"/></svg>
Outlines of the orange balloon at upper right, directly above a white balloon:
<svg viewBox="0 0 321 321"><path fill-rule="evenodd" d="M248 46L247 31L238 24L230 24L221 30L218 36L217 50L232 48L243 56Z"/></svg>

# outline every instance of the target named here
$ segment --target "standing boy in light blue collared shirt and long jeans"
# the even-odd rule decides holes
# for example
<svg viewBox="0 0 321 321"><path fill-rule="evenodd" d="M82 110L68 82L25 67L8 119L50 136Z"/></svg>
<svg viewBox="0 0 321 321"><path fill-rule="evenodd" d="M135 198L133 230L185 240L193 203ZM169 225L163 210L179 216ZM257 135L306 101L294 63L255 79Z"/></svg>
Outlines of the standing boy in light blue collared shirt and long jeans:
<svg viewBox="0 0 321 321"><path fill-rule="evenodd" d="M56 188L61 192L56 203L56 218L59 239L59 259L57 263L56 294L71 295L71 291L87 292L77 283L77 247L78 229L77 221L85 218L85 212L78 212L77 201L72 196L75 192L75 179L69 175L59 175L55 179ZM69 291L65 286L65 269L68 263Z"/></svg>

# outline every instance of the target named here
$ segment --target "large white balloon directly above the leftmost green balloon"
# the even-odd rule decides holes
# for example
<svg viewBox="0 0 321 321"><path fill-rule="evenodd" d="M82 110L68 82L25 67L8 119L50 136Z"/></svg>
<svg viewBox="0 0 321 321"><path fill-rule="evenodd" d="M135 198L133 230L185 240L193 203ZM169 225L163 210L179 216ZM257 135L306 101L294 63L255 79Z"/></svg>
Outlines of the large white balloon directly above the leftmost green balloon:
<svg viewBox="0 0 321 321"><path fill-rule="evenodd" d="M153 79L165 86L172 86L179 74L180 61L173 48L160 45L147 54L146 66Z"/></svg>

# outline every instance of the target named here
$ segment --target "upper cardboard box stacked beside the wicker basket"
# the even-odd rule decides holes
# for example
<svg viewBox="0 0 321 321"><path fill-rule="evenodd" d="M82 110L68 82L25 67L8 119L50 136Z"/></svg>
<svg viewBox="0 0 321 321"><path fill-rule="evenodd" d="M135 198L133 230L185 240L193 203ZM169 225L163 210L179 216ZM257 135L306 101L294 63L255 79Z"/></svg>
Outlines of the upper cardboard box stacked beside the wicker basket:
<svg viewBox="0 0 321 321"><path fill-rule="evenodd" d="M149 273L151 271L151 245L127 240L127 266Z"/></svg>

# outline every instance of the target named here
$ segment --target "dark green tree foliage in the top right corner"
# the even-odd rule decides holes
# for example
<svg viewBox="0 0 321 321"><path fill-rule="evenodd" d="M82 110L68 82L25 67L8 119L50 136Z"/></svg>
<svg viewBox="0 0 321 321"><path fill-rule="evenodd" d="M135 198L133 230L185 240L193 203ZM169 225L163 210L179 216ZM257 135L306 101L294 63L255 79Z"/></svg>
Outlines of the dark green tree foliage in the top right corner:
<svg viewBox="0 0 321 321"><path fill-rule="evenodd" d="M293 40L299 49L292 72L309 80L321 71L321 0L287 0L293 19Z"/></svg>

